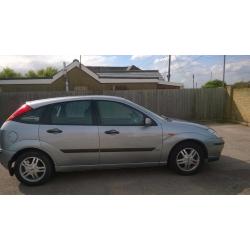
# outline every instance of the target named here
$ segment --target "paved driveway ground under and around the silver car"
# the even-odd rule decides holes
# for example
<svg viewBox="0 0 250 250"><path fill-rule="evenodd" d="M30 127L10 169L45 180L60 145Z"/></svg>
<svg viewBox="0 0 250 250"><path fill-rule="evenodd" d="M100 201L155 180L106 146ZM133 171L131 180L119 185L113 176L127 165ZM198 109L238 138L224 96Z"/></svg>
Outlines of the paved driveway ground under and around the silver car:
<svg viewBox="0 0 250 250"><path fill-rule="evenodd" d="M250 193L250 127L210 124L225 139L220 161L193 176L162 168L58 173L39 187L20 184L0 167L0 194L239 194Z"/></svg>

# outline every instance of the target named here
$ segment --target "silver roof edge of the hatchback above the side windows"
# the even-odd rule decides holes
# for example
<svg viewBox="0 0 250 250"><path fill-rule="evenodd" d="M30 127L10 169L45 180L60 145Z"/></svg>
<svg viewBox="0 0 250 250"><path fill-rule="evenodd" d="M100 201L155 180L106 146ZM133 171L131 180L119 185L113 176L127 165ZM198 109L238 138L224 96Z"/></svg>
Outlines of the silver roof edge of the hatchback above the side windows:
<svg viewBox="0 0 250 250"><path fill-rule="evenodd" d="M34 101L26 102L27 105L32 108L39 108L45 105L59 103L59 102L68 102L68 101L80 101L80 100L110 100L110 101L127 101L128 100L118 97L118 96L107 96L107 95L85 95L85 96L64 96L64 97L53 97L46 98Z"/></svg>

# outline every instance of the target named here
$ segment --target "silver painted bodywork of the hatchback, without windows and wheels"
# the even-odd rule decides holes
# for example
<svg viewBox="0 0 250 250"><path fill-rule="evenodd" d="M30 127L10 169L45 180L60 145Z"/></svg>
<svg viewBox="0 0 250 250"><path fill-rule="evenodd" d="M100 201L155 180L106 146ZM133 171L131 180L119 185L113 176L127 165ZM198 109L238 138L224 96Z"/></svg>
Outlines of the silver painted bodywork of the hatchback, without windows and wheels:
<svg viewBox="0 0 250 250"><path fill-rule="evenodd" d="M172 148L184 140L195 140L204 145L207 158L220 157L223 140L209 128L195 123L164 119L131 101L114 96L60 97L27 102L33 109L44 105L77 101L110 100L135 108L154 120L157 126L69 126L33 125L6 121L0 130L0 162L8 167L13 156L25 149L39 149L54 161L56 170L75 168L102 168L121 166L155 166L166 164ZM60 134L48 134L48 129L59 128ZM119 134L107 135L107 130L119 130ZM60 149L95 148L154 148L137 152L84 152L63 153ZM2 152L1 152L2 151Z"/></svg>

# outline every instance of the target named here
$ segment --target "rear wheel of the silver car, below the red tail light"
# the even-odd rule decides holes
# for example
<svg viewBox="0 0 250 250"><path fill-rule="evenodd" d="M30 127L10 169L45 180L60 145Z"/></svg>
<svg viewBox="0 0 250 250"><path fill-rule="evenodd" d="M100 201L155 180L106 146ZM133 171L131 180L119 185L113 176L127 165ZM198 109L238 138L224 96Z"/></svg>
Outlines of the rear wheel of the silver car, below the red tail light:
<svg viewBox="0 0 250 250"><path fill-rule="evenodd" d="M38 186L54 175L54 166L49 157L39 151L28 151L17 157L15 176L23 184Z"/></svg>

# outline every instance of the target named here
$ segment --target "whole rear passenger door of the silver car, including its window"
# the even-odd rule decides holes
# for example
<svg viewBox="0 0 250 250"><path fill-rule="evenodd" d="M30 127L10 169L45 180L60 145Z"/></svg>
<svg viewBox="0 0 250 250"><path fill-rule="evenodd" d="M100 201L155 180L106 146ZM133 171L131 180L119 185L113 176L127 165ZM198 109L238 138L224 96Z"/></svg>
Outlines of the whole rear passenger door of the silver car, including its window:
<svg viewBox="0 0 250 250"><path fill-rule="evenodd" d="M96 165L99 160L98 127L91 100L50 105L40 125L41 146L59 165Z"/></svg>

